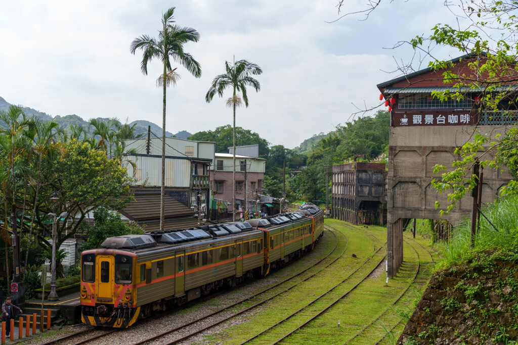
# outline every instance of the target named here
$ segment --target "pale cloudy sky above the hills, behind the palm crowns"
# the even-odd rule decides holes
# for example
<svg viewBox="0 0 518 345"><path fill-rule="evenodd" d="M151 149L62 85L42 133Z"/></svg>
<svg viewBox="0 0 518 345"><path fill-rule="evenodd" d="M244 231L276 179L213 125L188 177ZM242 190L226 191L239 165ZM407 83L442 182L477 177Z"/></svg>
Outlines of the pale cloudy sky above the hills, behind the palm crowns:
<svg viewBox="0 0 518 345"><path fill-rule="evenodd" d="M52 116L144 119L161 126L162 89L155 84L161 63L152 61L143 75L141 51L130 54L130 43L143 34L156 37L162 12L175 6L177 24L201 35L185 51L201 64L203 75L196 79L178 68L182 79L167 90L166 130L195 133L232 124L232 110L225 107L231 92L211 103L205 94L235 55L264 71L256 77L261 92L249 89L249 107L237 110L237 126L293 148L351 121L357 108L377 106L376 84L400 76L389 72L413 54L409 47L387 48L452 19L442 1L396 0L365 21L354 15L326 23L338 18L337 3L2 0L0 96ZM365 3L346 0L342 13ZM434 53L460 55L443 48Z"/></svg>

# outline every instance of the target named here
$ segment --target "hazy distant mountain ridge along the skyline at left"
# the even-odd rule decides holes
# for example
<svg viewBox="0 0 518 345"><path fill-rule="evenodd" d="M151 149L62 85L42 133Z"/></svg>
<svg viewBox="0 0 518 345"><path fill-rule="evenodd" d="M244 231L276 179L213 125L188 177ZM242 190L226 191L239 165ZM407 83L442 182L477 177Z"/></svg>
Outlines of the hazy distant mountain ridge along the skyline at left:
<svg viewBox="0 0 518 345"><path fill-rule="evenodd" d="M11 104L8 103L4 98L0 97L0 110L7 111L9 109L10 105ZM36 115L37 117L43 119L44 121L50 121L52 119L52 116L48 115L47 113L43 113L43 112L37 111L32 108L28 108L28 107L23 107L23 106L21 106L21 107L23 108L23 111L25 112L25 115L27 115L27 116ZM99 119L101 121L105 121L105 122L109 121L108 117L105 117L105 118L98 117L97 119ZM71 125L81 125L81 126L83 126L83 128L88 128L88 121L85 121L83 118L81 118L80 116L75 115L75 114L66 115L66 116L56 115L56 116L54 116L54 122L56 122L57 124L59 124L61 126L64 126L66 129L70 128ZM133 124L136 124L136 126L135 126L136 134L147 133L148 126L151 126L151 132L153 132L157 137L162 137L162 127L157 126L152 122L149 122L146 120L137 120L137 121L132 122L130 125L133 125ZM3 127L3 126L4 126L4 124L0 123L0 127ZM184 130L179 131L176 134L172 134L172 133L166 131L165 135L166 135L166 137L177 137L177 138L182 138L182 139L187 139L190 136L192 136L191 133L189 133L188 131L184 131Z"/></svg>

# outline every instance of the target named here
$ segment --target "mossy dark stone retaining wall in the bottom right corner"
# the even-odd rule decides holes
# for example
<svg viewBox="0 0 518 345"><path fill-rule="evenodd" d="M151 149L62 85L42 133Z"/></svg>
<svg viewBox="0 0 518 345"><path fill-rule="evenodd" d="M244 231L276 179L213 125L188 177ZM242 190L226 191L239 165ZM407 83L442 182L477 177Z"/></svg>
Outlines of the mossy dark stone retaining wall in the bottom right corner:
<svg viewBox="0 0 518 345"><path fill-rule="evenodd" d="M493 258L433 275L397 344L518 344L517 265Z"/></svg>

